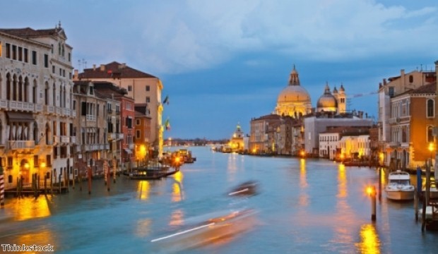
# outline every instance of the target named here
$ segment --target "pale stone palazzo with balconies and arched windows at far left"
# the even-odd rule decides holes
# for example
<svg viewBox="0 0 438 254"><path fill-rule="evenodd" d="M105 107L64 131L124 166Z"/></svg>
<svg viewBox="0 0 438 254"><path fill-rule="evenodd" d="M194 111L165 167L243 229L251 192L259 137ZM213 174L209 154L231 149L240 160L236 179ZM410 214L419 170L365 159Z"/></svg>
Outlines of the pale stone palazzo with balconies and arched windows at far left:
<svg viewBox="0 0 438 254"><path fill-rule="evenodd" d="M0 29L0 157L6 188L73 177L73 48L61 24Z"/></svg>

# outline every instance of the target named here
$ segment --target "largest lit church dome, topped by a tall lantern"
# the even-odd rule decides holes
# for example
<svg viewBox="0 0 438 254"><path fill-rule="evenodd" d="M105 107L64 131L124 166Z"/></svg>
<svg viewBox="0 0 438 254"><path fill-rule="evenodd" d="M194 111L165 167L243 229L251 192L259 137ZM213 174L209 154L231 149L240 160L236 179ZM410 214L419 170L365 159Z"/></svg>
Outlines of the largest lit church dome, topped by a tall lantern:
<svg viewBox="0 0 438 254"><path fill-rule="evenodd" d="M277 99L275 114L299 118L312 112L312 102L307 90L300 85L295 65L290 73L289 84L280 92Z"/></svg>

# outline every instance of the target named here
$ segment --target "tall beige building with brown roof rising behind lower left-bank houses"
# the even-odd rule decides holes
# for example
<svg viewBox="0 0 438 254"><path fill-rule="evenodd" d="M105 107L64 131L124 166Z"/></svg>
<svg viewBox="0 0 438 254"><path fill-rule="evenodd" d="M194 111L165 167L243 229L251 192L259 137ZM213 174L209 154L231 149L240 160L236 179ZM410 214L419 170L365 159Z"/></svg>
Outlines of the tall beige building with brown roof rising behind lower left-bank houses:
<svg viewBox="0 0 438 254"><path fill-rule="evenodd" d="M161 80L154 75L138 71L125 63L101 64L93 68L85 68L83 73L75 73L74 80L93 80L114 83L126 89L126 97L134 98L135 103L147 104L150 111L150 144L158 155L162 155L162 101L163 89ZM132 114L134 118L134 111ZM126 137L125 137L126 138Z"/></svg>

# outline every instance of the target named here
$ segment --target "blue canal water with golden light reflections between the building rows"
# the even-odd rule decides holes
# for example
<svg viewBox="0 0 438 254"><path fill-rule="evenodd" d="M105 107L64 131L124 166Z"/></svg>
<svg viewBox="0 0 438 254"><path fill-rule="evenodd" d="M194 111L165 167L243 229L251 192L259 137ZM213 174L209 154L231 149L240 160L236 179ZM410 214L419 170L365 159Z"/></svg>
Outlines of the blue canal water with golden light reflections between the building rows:
<svg viewBox="0 0 438 254"><path fill-rule="evenodd" d="M68 194L8 198L0 210L0 243L50 244L55 253L438 251L438 234L422 233L413 202L391 202L382 193L372 222L365 188L378 187L376 169L324 159L223 154L209 147L189 150L196 162L160 181L118 176L109 192L96 180L91 195L84 182ZM258 195L227 195L249 180L259 183ZM248 231L189 249L151 242L211 212L246 208L256 211Z"/></svg>

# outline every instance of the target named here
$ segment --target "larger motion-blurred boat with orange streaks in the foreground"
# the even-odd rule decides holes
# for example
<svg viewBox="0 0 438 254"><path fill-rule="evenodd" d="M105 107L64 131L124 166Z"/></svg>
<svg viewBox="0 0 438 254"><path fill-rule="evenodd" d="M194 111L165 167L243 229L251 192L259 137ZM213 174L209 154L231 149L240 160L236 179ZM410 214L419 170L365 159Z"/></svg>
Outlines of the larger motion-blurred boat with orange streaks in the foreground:
<svg viewBox="0 0 438 254"><path fill-rule="evenodd" d="M256 211L249 208L224 210L188 219L189 223L170 234L150 240L155 250L177 252L231 239L249 231L256 224Z"/></svg>

